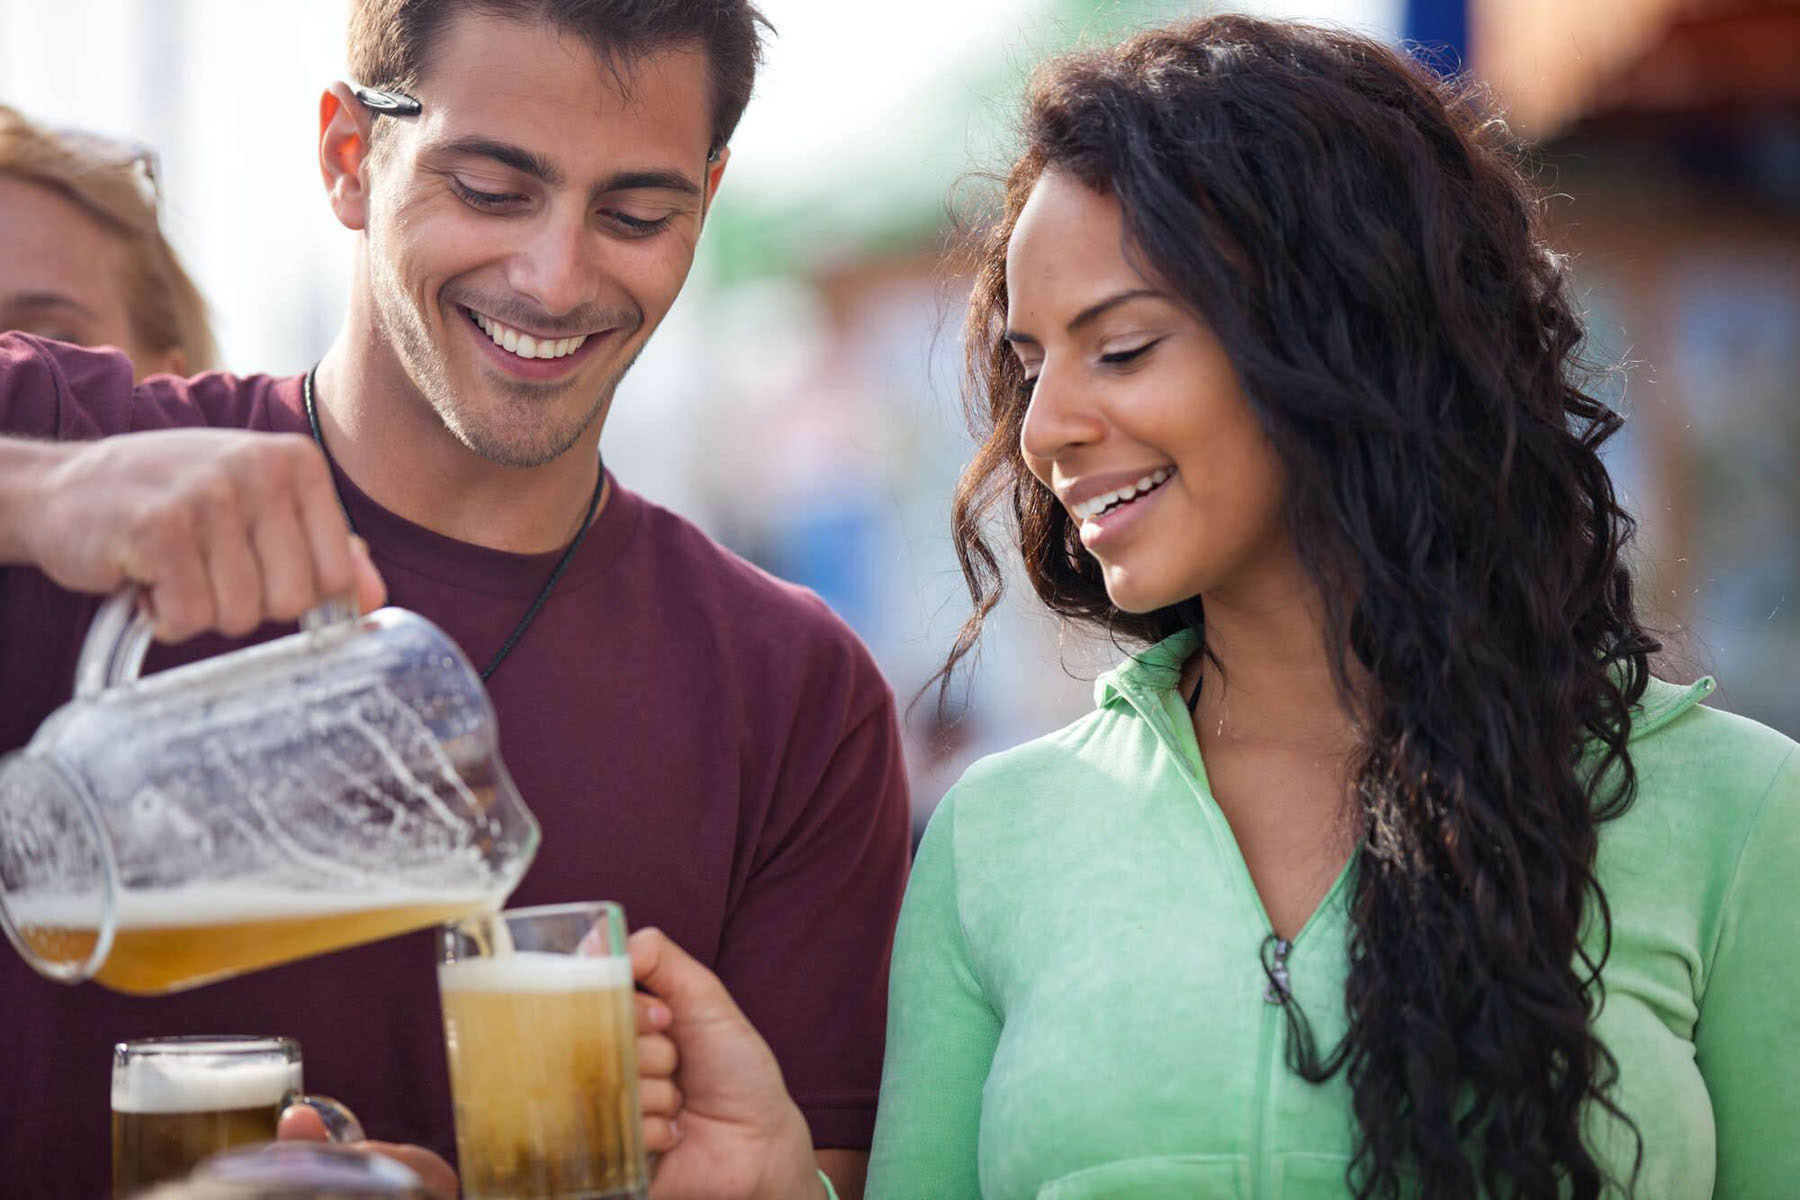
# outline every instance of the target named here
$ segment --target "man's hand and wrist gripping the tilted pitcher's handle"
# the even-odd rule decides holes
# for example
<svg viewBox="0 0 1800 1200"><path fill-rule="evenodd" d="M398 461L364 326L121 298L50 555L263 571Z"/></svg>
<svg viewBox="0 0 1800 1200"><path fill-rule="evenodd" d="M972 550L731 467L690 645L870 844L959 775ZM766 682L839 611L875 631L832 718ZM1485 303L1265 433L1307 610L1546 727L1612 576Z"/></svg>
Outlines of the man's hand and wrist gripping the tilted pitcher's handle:
<svg viewBox="0 0 1800 1200"><path fill-rule="evenodd" d="M16 446L16 443L14 443ZM4 547L74 592L142 585L157 637L243 637L385 587L319 446L295 434L166 430L34 448L9 468Z"/></svg>

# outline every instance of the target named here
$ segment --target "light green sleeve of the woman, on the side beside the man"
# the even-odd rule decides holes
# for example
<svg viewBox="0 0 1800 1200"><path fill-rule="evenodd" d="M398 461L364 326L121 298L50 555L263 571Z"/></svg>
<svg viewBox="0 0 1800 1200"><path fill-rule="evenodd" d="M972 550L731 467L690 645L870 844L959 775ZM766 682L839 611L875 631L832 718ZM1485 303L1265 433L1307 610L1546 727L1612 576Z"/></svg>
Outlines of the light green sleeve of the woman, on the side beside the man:
<svg viewBox="0 0 1800 1200"><path fill-rule="evenodd" d="M954 802L952 788L932 813L895 932L887 1067L868 1200L981 1195L981 1090L1001 1020L963 934Z"/></svg>

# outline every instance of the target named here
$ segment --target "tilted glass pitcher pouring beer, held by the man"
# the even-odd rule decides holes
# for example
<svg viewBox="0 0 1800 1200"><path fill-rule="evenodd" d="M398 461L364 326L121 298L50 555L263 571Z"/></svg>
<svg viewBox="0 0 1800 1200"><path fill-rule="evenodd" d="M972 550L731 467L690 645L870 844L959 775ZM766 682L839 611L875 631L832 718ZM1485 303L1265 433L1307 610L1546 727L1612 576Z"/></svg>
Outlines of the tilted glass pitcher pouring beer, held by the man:
<svg viewBox="0 0 1800 1200"><path fill-rule="evenodd" d="M139 678L133 594L0 763L0 925L63 982L180 991L497 910L538 826L463 651L400 608Z"/></svg>

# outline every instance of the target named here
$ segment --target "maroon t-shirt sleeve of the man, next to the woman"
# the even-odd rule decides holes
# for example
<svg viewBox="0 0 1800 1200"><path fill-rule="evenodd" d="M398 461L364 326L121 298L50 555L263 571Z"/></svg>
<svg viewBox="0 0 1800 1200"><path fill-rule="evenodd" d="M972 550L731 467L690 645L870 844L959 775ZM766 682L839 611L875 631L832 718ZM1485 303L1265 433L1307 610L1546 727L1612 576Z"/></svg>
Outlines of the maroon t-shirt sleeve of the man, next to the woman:
<svg viewBox="0 0 1800 1200"><path fill-rule="evenodd" d="M731 907L718 977L769 1040L814 1144L864 1150L875 1132L887 1024L887 950L911 829L893 693L857 648L855 707L806 725L841 729L821 766L790 765L797 817L779 813ZM814 754L792 752L794 759ZM792 797L790 797L792 799Z"/></svg>

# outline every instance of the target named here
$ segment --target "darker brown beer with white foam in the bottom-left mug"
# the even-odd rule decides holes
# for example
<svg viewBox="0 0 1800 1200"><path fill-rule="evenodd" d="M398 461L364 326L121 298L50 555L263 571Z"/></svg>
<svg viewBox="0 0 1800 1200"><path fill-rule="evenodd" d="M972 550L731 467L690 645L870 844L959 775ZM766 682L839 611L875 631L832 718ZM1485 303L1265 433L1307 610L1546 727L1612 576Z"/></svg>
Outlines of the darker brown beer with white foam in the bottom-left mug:
<svg viewBox="0 0 1800 1200"><path fill-rule="evenodd" d="M182 1178L220 1150L274 1141L299 1094L299 1047L283 1038L124 1043L112 1096L115 1200Z"/></svg>

